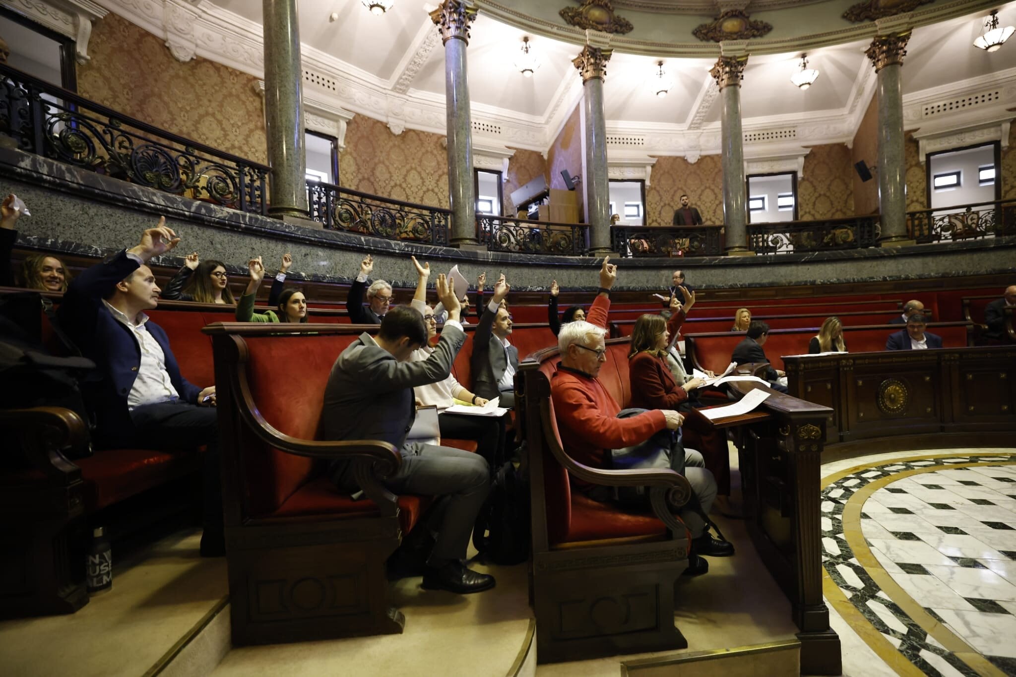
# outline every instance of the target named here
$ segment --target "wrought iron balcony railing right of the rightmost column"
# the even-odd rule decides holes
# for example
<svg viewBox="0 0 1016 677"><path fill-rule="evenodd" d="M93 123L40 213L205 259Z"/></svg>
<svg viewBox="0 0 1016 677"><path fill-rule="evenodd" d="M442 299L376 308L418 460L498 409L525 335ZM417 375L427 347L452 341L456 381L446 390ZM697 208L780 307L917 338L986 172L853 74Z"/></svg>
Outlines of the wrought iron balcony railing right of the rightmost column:
<svg viewBox="0 0 1016 677"><path fill-rule="evenodd" d="M1016 235L1016 200L909 211L906 228L918 245Z"/></svg>

